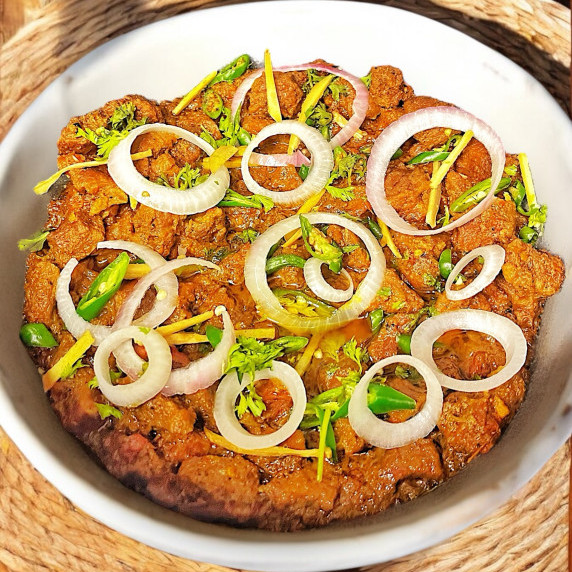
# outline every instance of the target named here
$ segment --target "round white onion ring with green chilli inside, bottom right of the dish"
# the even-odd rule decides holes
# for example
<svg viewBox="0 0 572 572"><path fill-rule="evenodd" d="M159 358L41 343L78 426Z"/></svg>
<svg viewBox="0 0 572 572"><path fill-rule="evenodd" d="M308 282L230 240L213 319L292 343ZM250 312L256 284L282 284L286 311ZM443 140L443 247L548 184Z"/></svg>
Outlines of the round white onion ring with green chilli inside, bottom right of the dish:
<svg viewBox="0 0 572 572"><path fill-rule="evenodd" d="M421 410L403 423L378 419L367 406L367 389L374 375L392 363L413 366L425 380L427 396ZM422 361L408 355L385 358L370 367L361 378L350 399L348 419L353 430L368 443L382 449L403 447L427 436L437 425L443 409L443 390L433 371Z"/></svg>

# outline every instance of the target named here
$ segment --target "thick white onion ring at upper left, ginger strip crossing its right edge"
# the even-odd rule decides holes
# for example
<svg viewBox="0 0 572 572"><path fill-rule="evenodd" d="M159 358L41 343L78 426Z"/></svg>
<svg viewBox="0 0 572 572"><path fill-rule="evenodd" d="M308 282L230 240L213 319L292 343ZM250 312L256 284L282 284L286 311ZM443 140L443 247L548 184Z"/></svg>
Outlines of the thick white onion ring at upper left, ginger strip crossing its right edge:
<svg viewBox="0 0 572 572"><path fill-rule="evenodd" d="M204 183L185 191L152 183L137 171L131 159L131 145L139 135L151 131L172 133L196 145L208 155L214 151L204 139L186 129L163 123L142 125L131 131L109 154L107 169L115 184L140 203L172 214L200 213L220 202L230 182L228 169L224 166L210 175Z"/></svg>

